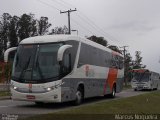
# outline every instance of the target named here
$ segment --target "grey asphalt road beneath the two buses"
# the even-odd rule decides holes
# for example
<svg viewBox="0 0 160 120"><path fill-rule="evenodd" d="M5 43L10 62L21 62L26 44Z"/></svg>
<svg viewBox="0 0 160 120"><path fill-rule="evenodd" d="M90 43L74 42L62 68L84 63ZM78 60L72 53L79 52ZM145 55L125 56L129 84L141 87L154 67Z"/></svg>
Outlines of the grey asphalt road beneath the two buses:
<svg viewBox="0 0 160 120"><path fill-rule="evenodd" d="M123 90L121 93L117 93L114 99L121 99L130 96L136 96L139 94L144 94L149 91L134 91L133 89ZM96 97L86 99L82 105L94 104L96 102L110 101L111 98ZM12 100L0 100L0 115L9 114L9 115L22 115L30 116L36 114L45 114L52 113L59 110L68 109L73 106L71 103L56 103L56 104L45 104L38 106L33 102L24 102L24 101L12 101Z"/></svg>

